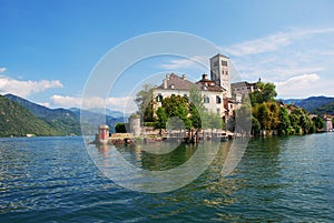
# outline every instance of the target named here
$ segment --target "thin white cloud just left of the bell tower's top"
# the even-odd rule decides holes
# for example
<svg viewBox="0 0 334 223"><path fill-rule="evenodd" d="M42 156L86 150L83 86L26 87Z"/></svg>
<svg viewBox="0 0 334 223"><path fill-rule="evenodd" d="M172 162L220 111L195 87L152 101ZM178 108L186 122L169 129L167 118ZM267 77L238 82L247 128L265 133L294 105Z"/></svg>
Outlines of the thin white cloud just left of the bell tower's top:
<svg viewBox="0 0 334 223"><path fill-rule="evenodd" d="M198 67L199 64L208 64L208 57L195 55L193 58L174 59L166 61L166 63L159 67L167 70L186 69L190 67Z"/></svg>

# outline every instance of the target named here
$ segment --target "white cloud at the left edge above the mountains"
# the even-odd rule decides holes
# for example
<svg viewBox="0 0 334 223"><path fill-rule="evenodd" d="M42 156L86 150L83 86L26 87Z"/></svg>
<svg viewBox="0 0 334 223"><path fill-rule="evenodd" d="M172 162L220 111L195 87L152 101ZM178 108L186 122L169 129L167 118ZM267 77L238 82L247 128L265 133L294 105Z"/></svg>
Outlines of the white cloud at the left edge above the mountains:
<svg viewBox="0 0 334 223"><path fill-rule="evenodd" d="M12 93L27 98L31 93L39 93L48 89L62 87L63 85L59 80L21 81L4 75L0 77L0 94Z"/></svg>

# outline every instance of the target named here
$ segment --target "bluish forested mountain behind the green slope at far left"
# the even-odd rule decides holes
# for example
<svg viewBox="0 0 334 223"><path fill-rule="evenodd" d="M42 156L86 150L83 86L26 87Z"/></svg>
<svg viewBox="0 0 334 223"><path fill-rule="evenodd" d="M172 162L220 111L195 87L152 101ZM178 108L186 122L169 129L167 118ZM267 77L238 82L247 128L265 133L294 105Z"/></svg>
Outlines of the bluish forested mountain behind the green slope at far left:
<svg viewBox="0 0 334 223"><path fill-rule="evenodd" d="M7 99L28 109L35 116L43 120L62 135L81 134L79 116L66 109L49 109L13 94L6 94Z"/></svg>

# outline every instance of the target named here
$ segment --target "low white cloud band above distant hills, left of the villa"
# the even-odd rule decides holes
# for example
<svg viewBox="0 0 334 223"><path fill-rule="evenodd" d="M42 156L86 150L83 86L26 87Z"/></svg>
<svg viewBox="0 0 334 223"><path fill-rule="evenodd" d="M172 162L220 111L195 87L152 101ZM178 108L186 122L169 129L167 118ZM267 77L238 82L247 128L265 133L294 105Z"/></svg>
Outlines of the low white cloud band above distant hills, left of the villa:
<svg viewBox="0 0 334 223"><path fill-rule="evenodd" d="M134 98L100 98L91 97L84 100L79 97L63 97L63 95L52 95L52 104L56 107L63 108L82 108L82 109L94 109L94 108L107 108L116 111L124 111L125 113L131 113L137 110L134 102Z"/></svg>

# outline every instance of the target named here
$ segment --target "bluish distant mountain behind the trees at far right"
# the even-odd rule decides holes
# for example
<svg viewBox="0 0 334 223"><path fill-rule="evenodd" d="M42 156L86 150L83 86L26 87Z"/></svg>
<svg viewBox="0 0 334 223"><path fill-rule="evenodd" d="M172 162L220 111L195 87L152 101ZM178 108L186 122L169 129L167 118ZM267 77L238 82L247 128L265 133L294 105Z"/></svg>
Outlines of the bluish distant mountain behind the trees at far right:
<svg viewBox="0 0 334 223"><path fill-rule="evenodd" d="M327 98L327 97L311 97L307 99L285 99L282 100L286 104L291 104L292 102L305 109L308 112L312 112L316 108L323 107L327 103L334 102L334 98Z"/></svg>

